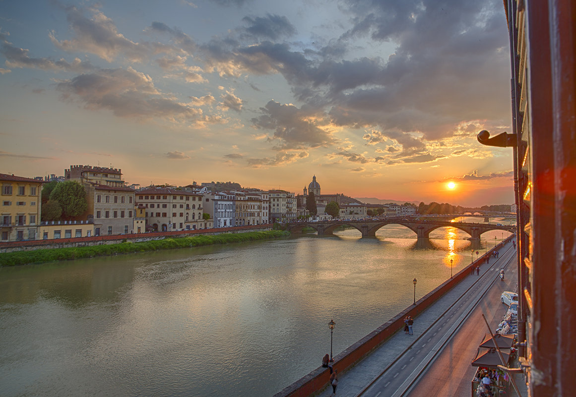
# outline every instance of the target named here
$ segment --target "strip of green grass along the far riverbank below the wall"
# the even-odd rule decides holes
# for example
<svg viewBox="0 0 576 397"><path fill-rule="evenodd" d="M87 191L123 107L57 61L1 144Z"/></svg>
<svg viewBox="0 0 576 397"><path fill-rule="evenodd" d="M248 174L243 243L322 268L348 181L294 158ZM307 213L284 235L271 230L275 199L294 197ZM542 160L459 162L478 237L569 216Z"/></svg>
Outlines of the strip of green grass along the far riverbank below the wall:
<svg viewBox="0 0 576 397"><path fill-rule="evenodd" d="M196 235L190 237L165 238L138 243L124 242L85 247L67 247L18 251L0 254L0 266L41 264L52 261L101 257L106 255L130 254L145 251L170 250L214 244L238 243L289 236L290 232L269 230L246 233L223 233L217 235Z"/></svg>

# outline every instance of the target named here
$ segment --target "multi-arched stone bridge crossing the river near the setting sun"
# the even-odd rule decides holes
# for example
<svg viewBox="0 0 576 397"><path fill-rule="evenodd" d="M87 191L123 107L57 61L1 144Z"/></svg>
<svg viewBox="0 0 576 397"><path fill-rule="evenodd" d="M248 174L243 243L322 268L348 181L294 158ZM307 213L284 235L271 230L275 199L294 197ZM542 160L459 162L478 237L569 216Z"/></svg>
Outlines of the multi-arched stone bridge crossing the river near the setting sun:
<svg viewBox="0 0 576 397"><path fill-rule="evenodd" d="M516 232L516 226L508 226L487 223L469 223L469 222L449 222L444 220L408 220L401 217L376 220L329 220L319 222L291 222L287 223L287 230L293 233L301 232L305 227L312 227L319 236L332 234L340 226L350 226L362 233L362 237L376 236L376 232L381 227L388 224L399 224L406 226L416 233L418 239L429 238L430 232L439 227L455 227L470 235L470 239L478 240L480 236L490 230L505 230L507 232Z"/></svg>

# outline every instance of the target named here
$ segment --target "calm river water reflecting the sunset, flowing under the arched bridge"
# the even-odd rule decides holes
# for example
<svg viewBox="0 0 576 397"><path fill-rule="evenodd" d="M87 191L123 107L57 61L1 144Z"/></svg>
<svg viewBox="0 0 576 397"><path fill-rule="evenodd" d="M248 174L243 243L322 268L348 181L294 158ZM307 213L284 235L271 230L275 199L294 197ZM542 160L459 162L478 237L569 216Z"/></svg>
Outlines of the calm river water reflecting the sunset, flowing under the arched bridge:
<svg viewBox="0 0 576 397"><path fill-rule="evenodd" d="M319 367L329 320L336 355L412 304L412 279L419 299L507 235L420 246L389 225L0 268L0 395L271 396Z"/></svg>

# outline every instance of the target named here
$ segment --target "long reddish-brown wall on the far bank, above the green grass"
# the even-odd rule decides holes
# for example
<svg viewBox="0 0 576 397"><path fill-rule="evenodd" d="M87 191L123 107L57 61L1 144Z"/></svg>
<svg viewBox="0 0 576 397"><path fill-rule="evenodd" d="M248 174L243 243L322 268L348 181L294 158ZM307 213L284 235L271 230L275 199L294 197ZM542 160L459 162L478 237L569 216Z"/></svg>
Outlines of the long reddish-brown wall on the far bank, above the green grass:
<svg viewBox="0 0 576 397"><path fill-rule="evenodd" d="M147 232L134 234L112 234L92 237L62 238L50 240L27 240L0 243L0 253L12 251L30 251L50 248L84 247L101 244L117 244L125 241L141 242L150 240L161 240L171 237L185 237L193 235L214 235L222 233L243 233L249 231L272 230L272 224L262 224L253 226L222 227L201 230L181 230L171 232Z"/></svg>

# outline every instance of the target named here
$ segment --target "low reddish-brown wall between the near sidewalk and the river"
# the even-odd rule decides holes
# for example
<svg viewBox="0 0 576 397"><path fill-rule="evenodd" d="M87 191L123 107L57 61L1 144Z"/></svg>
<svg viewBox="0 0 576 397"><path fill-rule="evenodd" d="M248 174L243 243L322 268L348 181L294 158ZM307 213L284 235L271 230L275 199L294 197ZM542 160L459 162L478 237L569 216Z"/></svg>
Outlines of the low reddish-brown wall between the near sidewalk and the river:
<svg viewBox="0 0 576 397"><path fill-rule="evenodd" d="M486 263L486 258L494 250L499 250L506 242L515 239L512 235L507 238L504 242L488 250L486 254L482 257L473 261L472 264L468 265L466 268L460 270L453 278L446 280L444 284L439 285L433 291L427 293L425 296L416 301L415 305L410 305L404 311L400 312L372 333L366 335L354 345L350 346L342 353L334 356L334 364L332 367L338 369L338 373L342 375L346 372L348 368L353 367L357 362L361 361L362 358L366 357L367 354L372 352L372 350L378 348L382 343L386 341L396 332L404 328L404 318L408 315L415 318L420 312L423 312L428 307L430 307L436 300L442 295L448 292L452 287L460 283L465 277L468 277L472 270L477 265L482 265ZM321 361L322 357L318 360ZM330 379L330 372L327 368L318 367L314 371L310 372L308 375L301 377L293 384L287 386L282 391L276 393L274 397L309 397L316 395L318 392L324 390L328 386L328 381Z"/></svg>

